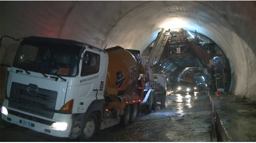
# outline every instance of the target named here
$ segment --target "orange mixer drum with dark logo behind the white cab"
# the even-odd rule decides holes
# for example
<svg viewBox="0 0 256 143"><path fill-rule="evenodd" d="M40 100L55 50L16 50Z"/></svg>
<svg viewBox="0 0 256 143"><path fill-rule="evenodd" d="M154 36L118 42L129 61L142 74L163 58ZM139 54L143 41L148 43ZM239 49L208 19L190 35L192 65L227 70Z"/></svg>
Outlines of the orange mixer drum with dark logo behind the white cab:
<svg viewBox="0 0 256 143"><path fill-rule="evenodd" d="M105 50L109 55L108 73L106 76L105 96L117 96L133 83L140 75L139 54L132 53L120 46Z"/></svg>

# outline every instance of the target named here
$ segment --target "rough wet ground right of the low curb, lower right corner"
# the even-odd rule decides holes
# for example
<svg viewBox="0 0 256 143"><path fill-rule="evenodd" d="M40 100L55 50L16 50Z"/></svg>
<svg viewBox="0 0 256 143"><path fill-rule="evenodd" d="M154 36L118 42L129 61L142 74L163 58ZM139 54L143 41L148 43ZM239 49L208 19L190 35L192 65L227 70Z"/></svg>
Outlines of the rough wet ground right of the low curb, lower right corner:
<svg viewBox="0 0 256 143"><path fill-rule="evenodd" d="M233 95L211 95L224 141L256 141L256 102ZM217 121L219 122L219 121Z"/></svg>

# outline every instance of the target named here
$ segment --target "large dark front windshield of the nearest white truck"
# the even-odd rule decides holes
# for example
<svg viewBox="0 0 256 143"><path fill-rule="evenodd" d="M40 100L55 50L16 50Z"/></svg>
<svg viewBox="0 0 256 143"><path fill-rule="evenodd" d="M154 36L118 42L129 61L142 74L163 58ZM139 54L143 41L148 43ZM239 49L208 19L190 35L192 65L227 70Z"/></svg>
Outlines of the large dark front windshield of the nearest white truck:
<svg viewBox="0 0 256 143"><path fill-rule="evenodd" d="M13 67L44 74L76 76L80 49L56 43L22 43Z"/></svg>

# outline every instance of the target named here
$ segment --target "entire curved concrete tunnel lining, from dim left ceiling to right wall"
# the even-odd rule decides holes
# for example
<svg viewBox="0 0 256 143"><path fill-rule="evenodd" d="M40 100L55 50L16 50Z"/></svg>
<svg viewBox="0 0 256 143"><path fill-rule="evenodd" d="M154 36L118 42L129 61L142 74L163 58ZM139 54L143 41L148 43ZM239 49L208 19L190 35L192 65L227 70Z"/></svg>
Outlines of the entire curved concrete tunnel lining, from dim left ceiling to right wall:
<svg viewBox="0 0 256 143"><path fill-rule="evenodd" d="M226 1L1 2L1 37L45 36L143 51L161 25L180 19L189 25L185 29L209 37L230 59L232 92L256 100L255 7L254 2Z"/></svg>

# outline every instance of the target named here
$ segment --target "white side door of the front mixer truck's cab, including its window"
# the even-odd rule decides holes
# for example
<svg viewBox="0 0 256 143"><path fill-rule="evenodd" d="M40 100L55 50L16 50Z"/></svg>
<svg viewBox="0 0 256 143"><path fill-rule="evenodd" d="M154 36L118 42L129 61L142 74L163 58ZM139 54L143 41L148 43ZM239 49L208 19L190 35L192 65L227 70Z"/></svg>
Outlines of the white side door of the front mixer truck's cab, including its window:
<svg viewBox="0 0 256 143"><path fill-rule="evenodd" d="M100 51L86 48L80 62L77 94L72 113L86 112L88 106L98 99L101 56Z"/></svg>

